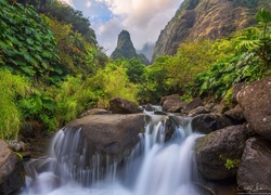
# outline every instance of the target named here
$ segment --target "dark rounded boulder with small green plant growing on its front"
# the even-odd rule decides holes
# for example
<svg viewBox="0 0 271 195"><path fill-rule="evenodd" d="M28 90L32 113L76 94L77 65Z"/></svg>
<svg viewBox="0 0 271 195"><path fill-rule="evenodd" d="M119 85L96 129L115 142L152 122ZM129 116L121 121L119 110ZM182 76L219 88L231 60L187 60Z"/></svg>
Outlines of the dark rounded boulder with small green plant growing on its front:
<svg viewBox="0 0 271 195"><path fill-rule="evenodd" d="M237 172L247 129L231 126L196 140L195 154L199 173L207 180L224 180Z"/></svg>

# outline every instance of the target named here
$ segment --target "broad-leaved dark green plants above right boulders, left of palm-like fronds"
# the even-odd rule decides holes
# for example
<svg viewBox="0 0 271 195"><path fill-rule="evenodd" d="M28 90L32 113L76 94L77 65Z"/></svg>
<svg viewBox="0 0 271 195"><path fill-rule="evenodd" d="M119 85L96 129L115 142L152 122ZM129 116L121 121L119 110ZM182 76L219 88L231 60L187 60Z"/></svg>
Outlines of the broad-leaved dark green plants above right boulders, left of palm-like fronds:
<svg viewBox="0 0 271 195"><path fill-rule="evenodd" d="M198 74L194 78L193 94L222 99L233 84L257 80L260 75L259 58L254 54L236 55L216 63L209 72Z"/></svg>

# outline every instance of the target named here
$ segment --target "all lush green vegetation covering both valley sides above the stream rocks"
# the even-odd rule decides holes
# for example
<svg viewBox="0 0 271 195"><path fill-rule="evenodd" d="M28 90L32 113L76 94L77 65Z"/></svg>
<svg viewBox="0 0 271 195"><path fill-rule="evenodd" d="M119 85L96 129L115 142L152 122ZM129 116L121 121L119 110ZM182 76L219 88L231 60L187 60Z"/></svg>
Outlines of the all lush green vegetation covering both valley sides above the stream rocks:
<svg viewBox="0 0 271 195"><path fill-rule="evenodd" d="M109 60L80 12L53 0L30 2L39 13L0 0L3 140L16 138L26 121L53 133L89 108L108 108L115 96L134 103L172 93L230 100L234 83L271 75L271 16L264 10L257 26L217 41L188 40L176 55L145 66L139 58Z"/></svg>

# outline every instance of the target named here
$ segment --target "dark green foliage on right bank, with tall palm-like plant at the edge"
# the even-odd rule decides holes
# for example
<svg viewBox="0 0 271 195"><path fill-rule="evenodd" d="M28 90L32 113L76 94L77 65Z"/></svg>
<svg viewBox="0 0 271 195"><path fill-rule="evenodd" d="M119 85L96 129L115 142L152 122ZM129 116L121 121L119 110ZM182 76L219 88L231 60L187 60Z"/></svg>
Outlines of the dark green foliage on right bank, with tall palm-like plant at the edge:
<svg viewBox="0 0 271 195"><path fill-rule="evenodd" d="M221 99L235 83L250 82L271 75L271 12L260 10L258 25L231 39L235 54L212 64L194 79L194 95Z"/></svg>

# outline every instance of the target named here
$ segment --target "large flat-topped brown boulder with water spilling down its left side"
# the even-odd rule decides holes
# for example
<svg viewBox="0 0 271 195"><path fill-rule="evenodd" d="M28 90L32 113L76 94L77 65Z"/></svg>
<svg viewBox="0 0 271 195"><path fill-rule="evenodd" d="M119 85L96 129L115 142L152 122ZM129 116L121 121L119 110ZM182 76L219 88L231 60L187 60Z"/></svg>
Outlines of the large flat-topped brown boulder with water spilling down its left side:
<svg viewBox="0 0 271 195"><path fill-rule="evenodd" d="M144 115L89 115L69 122L66 131L80 129L80 135L87 143L87 158L100 156L102 166L106 158L120 161L139 141L139 133L144 130Z"/></svg>

